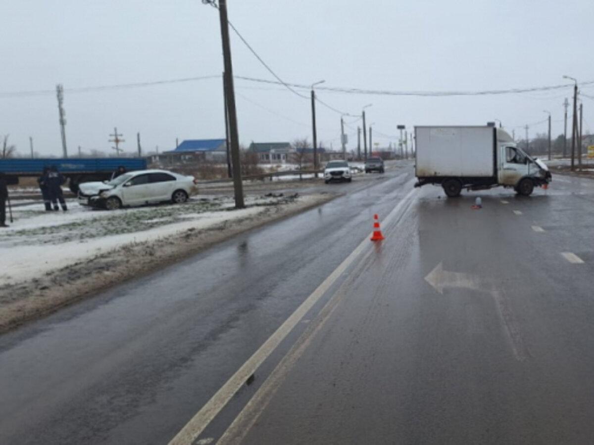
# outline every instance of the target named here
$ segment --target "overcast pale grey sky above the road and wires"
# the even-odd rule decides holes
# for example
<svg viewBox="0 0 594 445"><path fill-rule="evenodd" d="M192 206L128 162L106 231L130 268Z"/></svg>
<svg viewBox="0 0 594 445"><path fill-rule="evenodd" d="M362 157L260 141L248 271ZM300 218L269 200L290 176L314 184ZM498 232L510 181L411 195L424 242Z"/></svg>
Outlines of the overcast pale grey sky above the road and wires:
<svg viewBox="0 0 594 445"><path fill-rule="evenodd" d="M594 80L592 0L229 0L229 20L283 80L379 90L491 90L564 84L567 74ZM60 155L54 90L64 84L71 154L109 151L117 126L126 151L136 132L143 148L175 148L175 138L223 138L220 78L121 90L69 88L219 75L219 18L200 0L2 0L0 134L21 153L29 136L43 155ZM271 75L231 34L235 75ZM308 100L274 85L236 81L239 138L311 141ZM583 88L594 96L594 85ZM307 94L307 92L306 92ZM320 91L348 113L368 103L374 140L395 141L396 125L484 125L508 129L546 119L563 132L571 88L479 97L362 96ZM594 130L594 100L583 98L584 129ZM257 105L258 104L258 105ZM571 110L570 110L571 111ZM337 148L340 116L318 106L318 138ZM353 120L347 119L347 122ZM356 125L347 128L356 146ZM530 128L545 132L546 123ZM524 131L516 128L516 135Z"/></svg>

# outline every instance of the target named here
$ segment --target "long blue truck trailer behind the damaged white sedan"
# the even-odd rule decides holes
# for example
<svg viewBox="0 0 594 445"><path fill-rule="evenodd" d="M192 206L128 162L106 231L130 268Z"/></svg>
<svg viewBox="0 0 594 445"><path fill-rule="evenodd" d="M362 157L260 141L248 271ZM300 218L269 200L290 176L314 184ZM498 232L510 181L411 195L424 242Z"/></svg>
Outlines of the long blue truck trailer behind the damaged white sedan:
<svg viewBox="0 0 594 445"><path fill-rule="evenodd" d="M119 167L126 170L145 170L144 158L11 158L0 159L0 171L5 173L10 184L18 184L20 176L41 176L44 167L57 167L68 178L73 193L78 192L81 182L105 181Z"/></svg>

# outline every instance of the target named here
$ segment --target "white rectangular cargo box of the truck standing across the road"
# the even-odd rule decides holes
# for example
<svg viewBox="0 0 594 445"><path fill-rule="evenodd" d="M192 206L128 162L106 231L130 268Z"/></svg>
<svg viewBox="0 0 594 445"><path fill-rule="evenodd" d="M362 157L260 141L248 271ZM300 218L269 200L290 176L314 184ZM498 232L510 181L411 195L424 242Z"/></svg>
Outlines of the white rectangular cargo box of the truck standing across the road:
<svg viewBox="0 0 594 445"><path fill-rule="evenodd" d="M416 126L416 176L496 177L497 135L488 126Z"/></svg>

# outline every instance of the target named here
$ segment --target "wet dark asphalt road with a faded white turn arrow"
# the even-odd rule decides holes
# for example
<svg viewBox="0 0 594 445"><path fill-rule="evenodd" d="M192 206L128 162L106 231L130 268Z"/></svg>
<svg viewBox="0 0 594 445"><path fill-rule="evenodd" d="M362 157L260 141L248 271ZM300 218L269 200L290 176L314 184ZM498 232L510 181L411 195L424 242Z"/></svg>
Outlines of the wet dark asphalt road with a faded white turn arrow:
<svg viewBox="0 0 594 445"><path fill-rule="evenodd" d="M0 336L0 443L167 443L374 213L386 240L198 439L592 443L594 181L460 199L412 183L408 167L337 185L350 193Z"/></svg>

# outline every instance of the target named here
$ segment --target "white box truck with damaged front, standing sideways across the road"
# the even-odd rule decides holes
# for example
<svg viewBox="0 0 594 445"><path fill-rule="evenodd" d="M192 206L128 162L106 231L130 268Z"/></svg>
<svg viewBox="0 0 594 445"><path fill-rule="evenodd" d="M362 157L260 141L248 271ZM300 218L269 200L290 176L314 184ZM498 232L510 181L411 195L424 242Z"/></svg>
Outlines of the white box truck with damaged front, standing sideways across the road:
<svg viewBox="0 0 594 445"><path fill-rule="evenodd" d="M440 185L447 196L462 189L513 187L528 196L551 182L551 172L520 150L505 131L494 126L415 126L418 182Z"/></svg>

